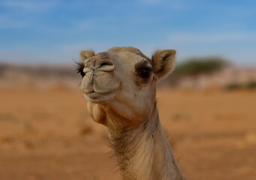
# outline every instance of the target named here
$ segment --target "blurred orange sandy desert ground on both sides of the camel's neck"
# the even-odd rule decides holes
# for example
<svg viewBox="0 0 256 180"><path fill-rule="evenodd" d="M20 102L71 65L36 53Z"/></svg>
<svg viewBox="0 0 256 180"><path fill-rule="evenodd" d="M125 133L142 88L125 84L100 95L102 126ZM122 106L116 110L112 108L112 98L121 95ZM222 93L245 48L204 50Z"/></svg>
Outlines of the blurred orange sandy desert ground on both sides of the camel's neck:
<svg viewBox="0 0 256 180"><path fill-rule="evenodd" d="M256 179L256 92L158 90L162 124L190 180ZM121 179L81 92L0 89L0 179Z"/></svg>

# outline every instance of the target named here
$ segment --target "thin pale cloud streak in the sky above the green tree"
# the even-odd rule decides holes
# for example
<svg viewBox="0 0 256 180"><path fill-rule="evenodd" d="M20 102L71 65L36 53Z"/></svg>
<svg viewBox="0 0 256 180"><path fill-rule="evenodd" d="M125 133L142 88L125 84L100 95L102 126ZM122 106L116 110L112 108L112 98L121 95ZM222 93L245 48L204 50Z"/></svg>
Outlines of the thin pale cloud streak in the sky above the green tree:
<svg viewBox="0 0 256 180"><path fill-rule="evenodd" d="M218 43L236 42L242 40L256 40L256 34L250 33L174 33L169 40L175 43Z"/></svg>

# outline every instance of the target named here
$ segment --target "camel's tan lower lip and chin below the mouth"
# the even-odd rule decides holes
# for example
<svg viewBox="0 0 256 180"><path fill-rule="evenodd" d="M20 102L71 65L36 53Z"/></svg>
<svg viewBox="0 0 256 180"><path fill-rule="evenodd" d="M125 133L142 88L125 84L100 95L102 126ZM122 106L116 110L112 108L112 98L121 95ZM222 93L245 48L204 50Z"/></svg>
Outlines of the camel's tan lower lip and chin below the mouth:
<svg viewBox="0 0 256 180"><path fill-rule="evenodd" d="M107 92L107 93L98 93L98 92L91 92L89 94L84 94L87 101L91 101L95 104L107 104L108 102L112 101L113 98L116 96L116 92Z"/></svg>

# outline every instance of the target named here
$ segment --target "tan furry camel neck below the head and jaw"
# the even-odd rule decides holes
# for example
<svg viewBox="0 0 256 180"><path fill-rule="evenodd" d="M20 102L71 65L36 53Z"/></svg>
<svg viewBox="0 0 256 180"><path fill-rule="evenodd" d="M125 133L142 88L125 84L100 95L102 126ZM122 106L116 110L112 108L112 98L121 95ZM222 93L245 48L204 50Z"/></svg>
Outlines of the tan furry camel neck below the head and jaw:
<svg viewBox="0 0 256 180"><path fill-rule="evenodd" d="M145 124L110 133L110 147L125 180L185 179L170 149L156 107Z"/></svg>

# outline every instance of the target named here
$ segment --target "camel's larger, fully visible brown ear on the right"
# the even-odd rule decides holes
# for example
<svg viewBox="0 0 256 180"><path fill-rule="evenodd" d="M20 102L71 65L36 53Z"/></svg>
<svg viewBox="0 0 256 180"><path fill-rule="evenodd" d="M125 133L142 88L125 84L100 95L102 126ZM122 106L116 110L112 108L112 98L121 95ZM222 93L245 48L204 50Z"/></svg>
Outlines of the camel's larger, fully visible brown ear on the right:
<svg viewBox="0 0 256 180"><path fill-rule="evenodd" d="M153 72L158 78L164 77L170 74L174 68L176 50L157 50L152 55Z"/></svg>

